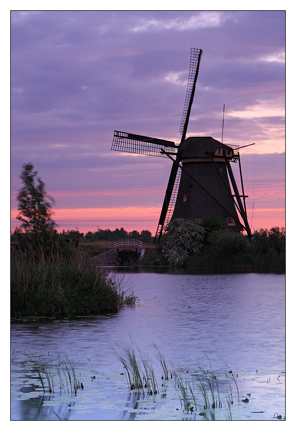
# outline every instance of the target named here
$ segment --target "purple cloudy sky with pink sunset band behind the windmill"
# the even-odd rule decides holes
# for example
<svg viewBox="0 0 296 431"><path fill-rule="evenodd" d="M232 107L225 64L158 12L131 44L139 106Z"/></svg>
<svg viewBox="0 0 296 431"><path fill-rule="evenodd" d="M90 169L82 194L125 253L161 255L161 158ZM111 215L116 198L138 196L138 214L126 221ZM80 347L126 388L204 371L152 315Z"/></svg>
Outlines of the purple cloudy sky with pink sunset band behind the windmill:
<svg viewBox="0 0 296 431"><path fill-rule="evenodd" d="M240 151L249 224L285 226L284 11L12 11L11 228L24 163L58 230L156 231L172 162L111 151L114 130L180 142L191 48L203 50L189 136ZM232 164L239 180L238 163Z"/></svg>

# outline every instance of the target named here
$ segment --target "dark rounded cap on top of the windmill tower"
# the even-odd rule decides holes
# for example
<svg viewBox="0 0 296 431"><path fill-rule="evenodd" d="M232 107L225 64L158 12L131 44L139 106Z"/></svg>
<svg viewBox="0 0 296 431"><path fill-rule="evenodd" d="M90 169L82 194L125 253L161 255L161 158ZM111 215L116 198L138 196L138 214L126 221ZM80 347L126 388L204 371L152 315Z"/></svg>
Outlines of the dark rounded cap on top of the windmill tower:
<svg viewBox="0 0 296 431"><path fill-rule="evenodd" d="M214 155L217 149L221 148L221 142L211 136L192 136L185 139L180 145L182 149L181 158L183 160L196 157L210 158L207 151L211 155ZM222 144L222 148L233 150L233 148L225 144Z"/></svg>

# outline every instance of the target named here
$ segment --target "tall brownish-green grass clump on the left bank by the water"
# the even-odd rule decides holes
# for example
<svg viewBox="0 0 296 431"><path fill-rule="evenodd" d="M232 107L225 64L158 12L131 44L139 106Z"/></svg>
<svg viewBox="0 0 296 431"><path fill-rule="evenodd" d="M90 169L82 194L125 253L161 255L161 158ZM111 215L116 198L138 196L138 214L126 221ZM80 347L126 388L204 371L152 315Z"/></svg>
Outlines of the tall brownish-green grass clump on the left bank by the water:
<svg viewBox="0 0 296 431"><path fill-rule="evenodd" d="M58 247L11 252L12 316L116 311L120 297L120 283L83 250L67 256Z"/></svg>

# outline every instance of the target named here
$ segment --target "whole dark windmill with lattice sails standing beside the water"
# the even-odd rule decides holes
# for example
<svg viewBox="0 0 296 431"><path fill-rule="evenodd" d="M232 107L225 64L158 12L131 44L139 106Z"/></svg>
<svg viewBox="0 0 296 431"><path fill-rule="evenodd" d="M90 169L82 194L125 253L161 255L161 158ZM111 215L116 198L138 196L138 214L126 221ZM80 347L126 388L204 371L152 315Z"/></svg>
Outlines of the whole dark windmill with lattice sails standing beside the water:
<svg viewBox="0 0 296 431"><path fill-rule="evenodd" d="M157 242L171 219L195 220L211 215L216 215L231 230L245 230L251 238L245 203L247 196L244 195L242 180L240 147L225 145L212 137L186 139L201 56L201 49L191 49L187 93L179 131L182 137L179 145L164 139L114 131L112 150L165 157L173 161L155 236ZM230 162L237 161L239 161L242 195L239 193L230 165ZM228 176L234 193L231 192Z"/></svg>

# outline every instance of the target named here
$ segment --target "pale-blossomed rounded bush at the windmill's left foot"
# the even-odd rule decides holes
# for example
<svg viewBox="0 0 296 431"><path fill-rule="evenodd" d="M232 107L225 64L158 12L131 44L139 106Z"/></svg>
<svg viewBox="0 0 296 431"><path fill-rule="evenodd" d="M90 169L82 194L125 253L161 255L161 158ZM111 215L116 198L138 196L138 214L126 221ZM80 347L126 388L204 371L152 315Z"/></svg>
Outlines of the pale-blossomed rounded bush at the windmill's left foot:
<svg viewBox="0 0 296 431"><path fill-rule="evenodd" d="M189 255L203 246L205 229L201 219L173 219L167 225L166 233L162 252L170 265L183 265Z"/></svg>

